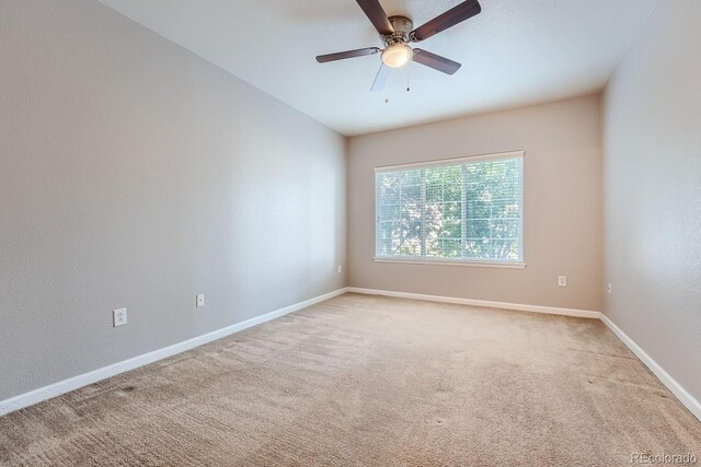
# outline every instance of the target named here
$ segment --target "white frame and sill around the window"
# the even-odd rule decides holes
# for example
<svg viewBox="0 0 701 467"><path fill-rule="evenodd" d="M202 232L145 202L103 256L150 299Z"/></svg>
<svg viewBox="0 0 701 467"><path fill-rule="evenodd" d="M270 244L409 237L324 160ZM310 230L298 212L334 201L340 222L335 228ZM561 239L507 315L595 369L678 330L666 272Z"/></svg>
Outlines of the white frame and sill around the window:
<svg viewBox="0 0 701 467"><path fill-rule="evenodd" d="M435 266L467 266L467 267L482 267L482 268L506 268L506 269L524 269L526 268L526 248L524 245L524 218L525 218L525 207L524 207L524 191L526 180L524 178L524 166L526 164L525 151L510 151L510 152L499 152L495 154L480 154L480 155L471 155L466 157L453 157L453 159L441 159L437 161L425 161L425 162L414 162L409 164L397 164L397 165L383 165L375 167L375 175L377 182L377 174L382 172L395 172L407 168L421 168L421 167L437 167L441 165L456 165L464 162L479 162L486 160L496 160L496 159L521 159L521 191L520 191L520 211L521 211L521 259L520 261L504 261L504 260L494 260L494 259L474 259L474 258L436 258L429 257L424 258L421 256L412 256L412 257L394 257L394 256L377 256L377 218L378 218L378 186L376 184L375 187L375 252L376 256L374 256L374 260L376 262L394 262L394 264L405 264L405 265L435 265Z"/></svg>

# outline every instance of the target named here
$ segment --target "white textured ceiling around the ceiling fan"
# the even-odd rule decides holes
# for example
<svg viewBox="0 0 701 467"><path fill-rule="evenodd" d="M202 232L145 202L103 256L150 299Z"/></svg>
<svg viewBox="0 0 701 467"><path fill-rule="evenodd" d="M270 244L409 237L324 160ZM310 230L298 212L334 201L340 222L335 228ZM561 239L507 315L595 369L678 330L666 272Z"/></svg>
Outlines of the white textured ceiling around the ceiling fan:
<svg viewBox="0 0 701 467"><path fill-rule="evenodd" d="M462 62L455 75L412 63L371 93L378 55L314 60L381 46L355 0L101 1L347 136L600 90L657 2L481 0L481 14L420 45ZM415 26L460 3L380 1Z"/></svg>

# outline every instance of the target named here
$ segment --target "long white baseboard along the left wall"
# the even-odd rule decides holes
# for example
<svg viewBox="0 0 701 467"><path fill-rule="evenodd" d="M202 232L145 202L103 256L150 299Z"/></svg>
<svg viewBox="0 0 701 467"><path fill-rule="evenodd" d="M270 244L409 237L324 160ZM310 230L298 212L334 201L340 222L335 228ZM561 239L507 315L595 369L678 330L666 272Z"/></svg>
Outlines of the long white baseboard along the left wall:
<svg viewBox="0 0 701 467"><path fill-rule="evenodd" d="M71 378L50 384L48 386L39 387L38 389L34 389L30 393L21 394L10 399L2 400L0 401L0 416L20 410L28 406L33 406L43 400L60 396L61 394L70 393L71 390L88 386L89 384L96 383L111 376L118 375L119 373L128 372L129 370L138 369L139 366L148 365L149 363L153 363L168 357L184 352L186 350L194 349L195 347L203 346L214 340L221 339L222 337L239 332L243 329L248 329L262 323L269 322L271 319L275 319L289 313L297 312L315 303L341 295L345 292L345 288L338 289L334 292L325 293L304 302L296 303L294 305L276 310L265 315L256 316L254 318L246 319L231 326L227 326L225 328L185 340L183 342L175 343L173 346L164 347L162 349L154 350L152 352L145 353L133 359L124 360L122 362L117 362L112 365L104 366L102 369L73 376Z"/></svg>

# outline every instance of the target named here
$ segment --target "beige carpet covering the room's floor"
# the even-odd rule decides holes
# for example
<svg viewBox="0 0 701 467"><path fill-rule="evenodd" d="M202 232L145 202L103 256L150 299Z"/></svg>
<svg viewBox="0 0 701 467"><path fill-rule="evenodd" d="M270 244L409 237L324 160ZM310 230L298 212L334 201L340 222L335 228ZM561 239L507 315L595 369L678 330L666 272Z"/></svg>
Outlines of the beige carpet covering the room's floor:
<svg viewBox="0 0 701 467"><path fill-rule="evenodd" d="M575 466L701 456L600 322L346 294L0 418L0 465Z"/></svg>

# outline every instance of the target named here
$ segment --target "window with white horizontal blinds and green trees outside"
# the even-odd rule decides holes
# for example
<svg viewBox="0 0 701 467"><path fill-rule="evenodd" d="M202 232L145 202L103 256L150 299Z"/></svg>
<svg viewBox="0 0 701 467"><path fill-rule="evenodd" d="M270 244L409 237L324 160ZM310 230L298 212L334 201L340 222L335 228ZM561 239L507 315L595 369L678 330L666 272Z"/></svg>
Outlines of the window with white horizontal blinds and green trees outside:
<svg viewBox="0 0 701 467"><path fill-rule="evenodd" d="M378 260L521 264L524 153L376 168Z"/></svg>

